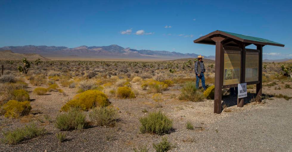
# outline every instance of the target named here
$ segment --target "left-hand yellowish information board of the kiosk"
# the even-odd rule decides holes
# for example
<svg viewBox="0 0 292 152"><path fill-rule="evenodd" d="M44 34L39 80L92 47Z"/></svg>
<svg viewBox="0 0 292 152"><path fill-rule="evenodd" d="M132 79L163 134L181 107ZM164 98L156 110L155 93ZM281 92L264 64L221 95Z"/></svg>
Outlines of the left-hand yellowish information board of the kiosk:
<svg viewBox="0 0 292 152"><path fill-rule="evenodd" d="M241 49L224 48L223 85L240 83Z"/></svg>

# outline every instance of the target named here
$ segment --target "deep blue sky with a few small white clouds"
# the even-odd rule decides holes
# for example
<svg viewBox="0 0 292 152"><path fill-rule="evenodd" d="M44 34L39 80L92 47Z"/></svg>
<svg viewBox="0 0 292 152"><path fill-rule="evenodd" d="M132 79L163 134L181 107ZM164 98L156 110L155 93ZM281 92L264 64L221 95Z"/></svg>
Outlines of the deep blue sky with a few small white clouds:
<svg viewBox="0 0 292 152"><path fill-rule="evenodd" d="M208 56L215 46L193 40L222 30L285 44L264 46L263 58L292 58L291 6L291 0L0 0L0 47L117 44Z"/></svg>

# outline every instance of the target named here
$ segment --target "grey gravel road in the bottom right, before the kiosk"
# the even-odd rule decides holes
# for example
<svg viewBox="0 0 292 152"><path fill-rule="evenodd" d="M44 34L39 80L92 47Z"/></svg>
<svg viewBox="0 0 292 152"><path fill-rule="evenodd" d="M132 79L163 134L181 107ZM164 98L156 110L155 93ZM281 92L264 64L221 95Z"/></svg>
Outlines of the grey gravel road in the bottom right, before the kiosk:
<svg viewBox="0 0 292 152"><path fill-rule="evenodd" d="M189 134L195 142L173 151L292 151L291 100L267 100L214 122L206 132Z"/></svg>

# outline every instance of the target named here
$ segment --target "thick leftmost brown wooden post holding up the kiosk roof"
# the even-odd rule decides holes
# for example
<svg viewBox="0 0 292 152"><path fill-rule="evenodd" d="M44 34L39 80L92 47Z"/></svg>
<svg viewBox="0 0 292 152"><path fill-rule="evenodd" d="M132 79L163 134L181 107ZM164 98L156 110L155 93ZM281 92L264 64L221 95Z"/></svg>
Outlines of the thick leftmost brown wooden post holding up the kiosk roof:
<svg viewBox="0 0 292 152"><path fill-rule="evenodd" d="M222 100L222 85L223 85L223 72L224 72L224 50L222 41L223 37L211 38L216 43L215 53L215 95L214 95L214 113L220 114L221 100Z"/></svg>

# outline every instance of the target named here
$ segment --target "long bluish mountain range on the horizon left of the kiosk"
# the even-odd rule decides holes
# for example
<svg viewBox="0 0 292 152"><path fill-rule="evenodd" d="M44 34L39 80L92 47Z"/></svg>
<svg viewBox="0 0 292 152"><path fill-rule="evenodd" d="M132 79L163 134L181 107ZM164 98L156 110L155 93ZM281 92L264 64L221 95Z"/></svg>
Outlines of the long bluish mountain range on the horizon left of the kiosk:
<svg viewBox="0 0 292 152"><path fill-rule="evenodd" d="M136 50L118 45L110 46L5 46L0 50L11 50L15 53L37 53L47 58L135 58L171 60L179 58L196 58L195 53L178 53L169 51Z"/></svg>

